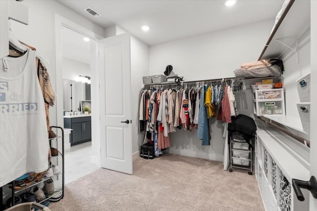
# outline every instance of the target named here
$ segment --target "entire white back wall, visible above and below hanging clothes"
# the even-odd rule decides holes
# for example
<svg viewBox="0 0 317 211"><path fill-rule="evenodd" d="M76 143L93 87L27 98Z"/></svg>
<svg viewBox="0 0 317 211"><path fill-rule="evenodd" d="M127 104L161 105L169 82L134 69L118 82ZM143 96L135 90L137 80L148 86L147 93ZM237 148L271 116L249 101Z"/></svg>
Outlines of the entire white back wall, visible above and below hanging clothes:
<svg viewBox="0 0 317 211"><path fill-rule="evenodd" d="M150 47L149 75L163 74L166 65L184 80L208 80L233 77L233 71L244 62L256 61L264 47L274 20L211 32L191 38ZM250 91L246 98L252 100ZM245 97L245 96L243 96ZM242 114L253 113L252 101L238 106ZM239 102L241 101L241 105ZM222 161L224 138L220 121L211 118L211 145L202 146L197 130L170 133L170 153Z"/></svg>

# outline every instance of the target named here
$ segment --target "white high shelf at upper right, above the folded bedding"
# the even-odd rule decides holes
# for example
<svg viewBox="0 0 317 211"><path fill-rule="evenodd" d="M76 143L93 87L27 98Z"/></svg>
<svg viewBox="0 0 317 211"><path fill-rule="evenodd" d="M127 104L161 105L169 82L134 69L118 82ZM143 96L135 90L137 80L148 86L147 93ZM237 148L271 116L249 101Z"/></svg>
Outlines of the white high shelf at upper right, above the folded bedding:
<svg viewBox="0 0 317 211"><path fill-rule="evenodd" d="M291 0L292 1L292 0ZM279 58L289 48L276 41L292 46L296 43L293 36L300 37L310 27L311 1L295 0L290 9L285 10L285 18L276 26L268 38L260 59ZM282 18L281 18L282 19ZM275 32L275 33L274 33ZM299 34L302 33L302 34Z"/></svg>

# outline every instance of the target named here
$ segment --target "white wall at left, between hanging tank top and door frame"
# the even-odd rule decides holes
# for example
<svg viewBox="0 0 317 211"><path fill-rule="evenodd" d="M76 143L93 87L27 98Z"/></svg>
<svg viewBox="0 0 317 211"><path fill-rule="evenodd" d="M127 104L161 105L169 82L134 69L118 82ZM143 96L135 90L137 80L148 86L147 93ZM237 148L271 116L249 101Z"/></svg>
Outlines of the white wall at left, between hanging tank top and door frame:
<svg viewBox="0 0 317 211"><path fill-rule="evenodd" d="M25 0L20 3L27 5L29 8L29 25L26 26L11 21L11 29L19 40L36 47L37 51L44 54L50 60L50 63L46 62L46 66L51 77L51 83L57 94L56 103L61 103L60 107L62 108L62 100L58 101L58 99L63 96L63 83L62 81L56 82L54 44L55 13L101 36L104 36L104 29L55 0ZM56 125L57 123L56 105L50 108L50 122L51 125Z"/></svg>

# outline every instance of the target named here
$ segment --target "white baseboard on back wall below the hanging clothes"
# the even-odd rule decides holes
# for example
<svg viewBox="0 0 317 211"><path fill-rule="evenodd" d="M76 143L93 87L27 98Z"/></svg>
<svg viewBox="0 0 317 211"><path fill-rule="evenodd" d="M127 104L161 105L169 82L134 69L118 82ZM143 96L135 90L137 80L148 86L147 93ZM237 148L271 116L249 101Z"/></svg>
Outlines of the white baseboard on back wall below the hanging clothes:
<svg viewBox="0 0 317 211"><path fill-rule="evenodd" d="M180 150L180 149L173 149L169 148L168 153L170 154L175 154L175 155L183 155L187 157L193 157L193 158L202 158L206 160L211 160L211 161L223 161L223 155L217 155L217 154L206 154L206 153L200 153L200 152L195 152L193 150Z"/></svg>

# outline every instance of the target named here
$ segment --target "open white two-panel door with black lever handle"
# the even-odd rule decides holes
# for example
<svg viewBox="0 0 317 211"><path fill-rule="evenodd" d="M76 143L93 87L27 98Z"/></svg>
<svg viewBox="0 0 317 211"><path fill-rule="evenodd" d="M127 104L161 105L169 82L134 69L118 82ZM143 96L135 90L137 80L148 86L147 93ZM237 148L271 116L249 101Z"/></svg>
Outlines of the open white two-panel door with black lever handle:
<svg viewBox="0 0 317 211"><path fill-rule="evenodd" d="M101 167L132 174L129 34L99 42L99 71Z"/></svg>

